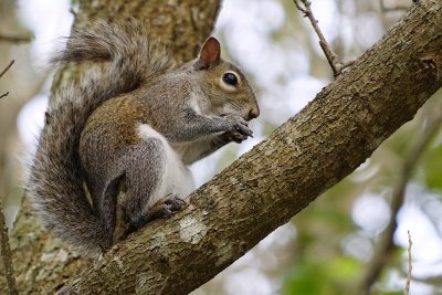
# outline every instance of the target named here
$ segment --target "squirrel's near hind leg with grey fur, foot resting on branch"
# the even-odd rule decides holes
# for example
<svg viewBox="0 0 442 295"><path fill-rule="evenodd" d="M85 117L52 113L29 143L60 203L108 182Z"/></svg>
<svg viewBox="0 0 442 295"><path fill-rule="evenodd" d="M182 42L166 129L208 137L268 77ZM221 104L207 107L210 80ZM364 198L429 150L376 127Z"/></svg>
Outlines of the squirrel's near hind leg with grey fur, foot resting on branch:
<svg viewBox="0 0 442 295"><path fill-rule="evenodd" d="M144 137L141 143L129 148L126 161L126 197L122 209L127 223L127 233L137 230L147 222L170 217L172 211L186 206L178 191L173 191L176 171L170 170L170 161L180 164L172 154L167 140L161 137Z"/></svg>

